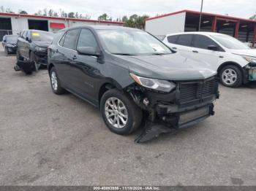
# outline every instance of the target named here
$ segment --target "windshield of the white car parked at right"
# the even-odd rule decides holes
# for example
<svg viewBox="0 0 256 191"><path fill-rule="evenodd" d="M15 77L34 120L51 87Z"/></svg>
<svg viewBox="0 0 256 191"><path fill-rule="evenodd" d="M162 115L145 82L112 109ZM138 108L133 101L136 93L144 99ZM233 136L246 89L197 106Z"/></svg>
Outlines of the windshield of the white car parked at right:
<svg viewBox="0 0 256 191"><path fill-rule="evenodd" d="M213 39L215 39L219 44L228 48L228 49L235 49L235 50L243 50L243 49L250 49L246 44L238 39L233 38L232 36L228 35L211 35Z"/></svg>

